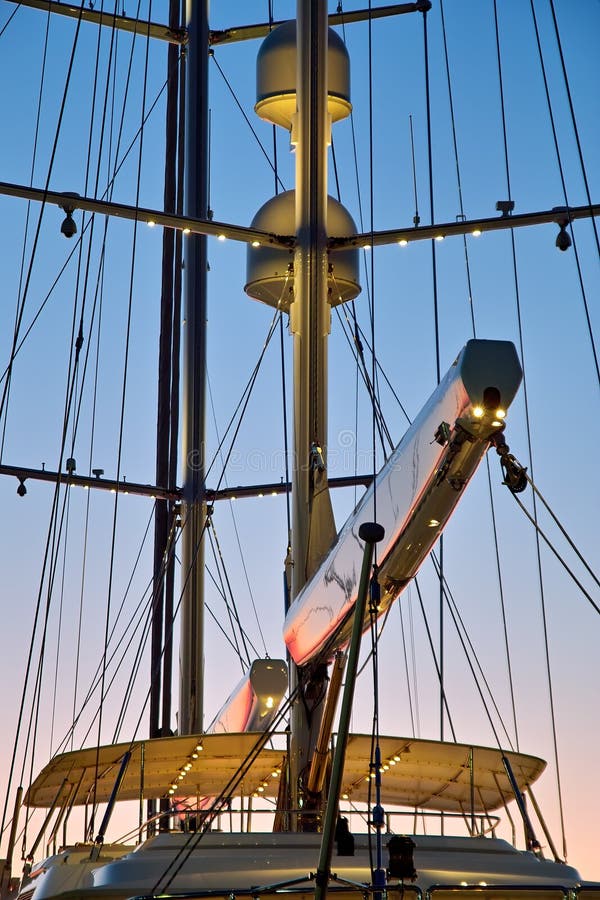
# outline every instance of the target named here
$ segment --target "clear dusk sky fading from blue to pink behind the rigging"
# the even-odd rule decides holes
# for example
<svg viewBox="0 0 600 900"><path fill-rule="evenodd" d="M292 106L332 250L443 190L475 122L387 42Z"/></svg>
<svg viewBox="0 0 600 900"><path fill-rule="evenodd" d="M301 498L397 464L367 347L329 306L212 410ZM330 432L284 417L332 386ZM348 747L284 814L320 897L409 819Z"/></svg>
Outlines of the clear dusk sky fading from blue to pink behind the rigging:
<svg viewBox="0 0 600 900"><path fill-rule="evenodd" d="M358 2L344 4L348 10L360 6ZM454 221L460 214L460 197L467 218L494 216L496 202L506 199L509 192L493 4L491 0L464 0L461 3L454 0L444 4L460 196L439 2L434 2L433 6L428 17L428 41L435 221ZM534 8L561 166L554 146L531 6L522 0L505 0L498 6L510 193L515 201L515 212L564 206L567 201L561 184L561 166L568 203L573 206L584 204L585 184L550 5L545 0L538 0ZM285 18L293 14L293 7L290 2L276 2L274 15ZM600 76L597 54L600 3L582 0L577 5L576 15L568 0L558 0L555 8L580 146L594 201L600 193L600 97L596 89ZM16 12L15 9L14 4L8 2L3 2L0 7L0 76L7 86L0 99L5 123L4 140L0 144L0 171L5 182L43 187L48 178L49 159L60 118L75 25L70 20L52 19L44 49L45 15L22 7ZM127 9L128 14L132 12ZM166 20L164 3L152 4L152 18ZM266 3L235 0L218 3L214 0L211 5L211 26L215 29L266 18ZM333 132L341 200L361 231L370 228L371 192L375 230L410 226L415 206L421 222L426 224L430 221L430 205L422 17L410 15L374 22L371 65L367 25L348 25L345 39L351 57L354 113L352 121L339 123ZM100 45L103 64L110 52L109 40L107 30ZM164 93L161 91L166 72L165 49L163 46L152 47L148 57L149 74L144 82L145 44L139 41L135 45L129 78L130 48L131 39L121 36L114 89L111 81L106 126L102 130L105 76L95 73L96 33L90 27L82 27L48 183L55 190L92 195L102 139L105 149L97 189L98 195L102 195L109 166L106 148L111 147L111 160L115 153L120 159L125 148L134 141L142 119L145 90L146 110L157 97L158 100L144 126L140 180L138 183L139 142L134 141L133 149L115 179L113 196L119 202L131 203L139 194L140 205L159 209L162 204ZM275 191L272 169L237 105L239 102L247 112L267 155L272 157L271 126L261 122L252 111L257 49L256 41L218 47L211 61L210 206L218 221L249 224L255 212ZM99 72L102 70L103 67L99 67ZM42 72L42 102L38 117ZM94 84L98 98L95 104ZM367 108L369 90L373 96L372 120ZM126 115L121 127L120 109L125 97ZM92 109L94 118L90 126ZM91 148L90 152L88 148ZM86 184L88 156L91 163ZM288 136L281 130L277 136L277 161L279 175L289 189L293 184L294 158ZM330 193L337 196L332 164ZM37 239L38 204L32 204L28 210L24 201L1 196L0 210L2 371L10 353L15 309L23 293L21 333L33 323L15 360L7 412L0 417L2 463L57 467L72 322L74 310L78 322L83 309L83 352L87 354L89 348L89 363L85 377L80 372L77 380L77 390L81 391L82 398L81 413L73 450L69 453L76 458L79 473L101 467L109 476L114 475L118 467L121 477L152 483L161 230L140 226L134 232L130 223L111 222L105 241L106 265L103 276L99 277L103 222L98 220L94 227L88 268L89 231L80 254L77 239L69 242L61 235L63 215L55 207L44 209ZM81 234L84 225L81 213L75 214L75 220L78 234ZM555 247L557 233L555 225L515 232L518 290L508 232L483 234L479 238L468 236L466 242L461 238L447 239L436 244L440 366L443 374L465 341L473 336L471 311L478 337L515 342L524 363L526 392L521 389L509 412L506 439L512 452L528 466L542 496L593 568L594 564L597 566L596 511L600 508L595 459L600 418L598 376L590 331L597 341L600 273L589 221L575 223L575 247L566 253ZM130 259L134 240L135 264L132 269ZM207 445L211 459L256 364L272 320L269 308L244 294L246 252L244 246L233 241L209 241ZM71 253L64 274L37 316ZM375 250L373 256L372 284L370 258L365 254L361 261L363 290L356 302L356 314L361 327L369 333L368 302L369 298L374 300L378 361L406 414L412 418L436 383L431 244L423 241L405 248L393 245ZM87 290L84 292L86 279ZM585 294L587 312L582 293ZM349 310L346 312L351 315ZM126 341L128 318L129 345ZM125 415L118 463L126 352ZM289 415L291 340L287 327L284 329L284 357L288 372ZM279 481L284 476L280 368L277 332L265 353L230 457L226 472L229 485ZM357 392L356 365L336 315L332 321L329 369L330 475L370 469L370 405L361 385ZM2 389L4 385L5 380ZM406 415L383 376L380 389L388 427L394 440L399 440L407 425ZM67 430L73 435L73 415ZM378 449L378 464L381 461L382 454ZM560 845L557 770L550 719L550 706L554 706L569 861L584 876L600 879L595 837L596 810L600 803L600 787L595 774L595 748L600 736L598 616L543 542L540 549L543 593L540 591L534 531L513 497L501 485L497 459L490 457L489 463L489 482L484 465L447 529L445 577L486 677L493 685L494 697L511 741L524 752L548 760L548 769L539 783L536 797L555 842ZM217 461L209 473L209 484L216 482L219 468ZM498 536L497 555L491 523L490 485ZM23 498L17 495L16 487L13 478L0 479L3 511L0 566L4 576L0 602L6 633L0 659L0 675L6 686L1 708L6 733L10 735L17 727L36 601L38 596L41 597L43 610L48 596L49 576L46 573L42 578L41 573L52 503L52 489L44 483L29 481L27 495ZM336 522L341 526L356 495L349 490L336 493L333 499ZM528 509L532 508L530 491L523 495L523 502ZM116 622L116 633L120 635L125 620L143 601L152 566L151 536L144 539L151 512L151 501L144 498L119 497L115 513L115 498L110 494L74 489L69 494L63 531L60 540L56 538L56 548L52 545L57 562L48 607L47 653L36 725L35 758L32 761L31 754L24 751L27 726L17 753L17 772L22 767L25 780L30 770L37 770L56 750L66 733L73 709L78 708L87 689L102 651L107 602L110 599L109 621L111 626ZM115 516L117 526L113 545ZM587 575L573 551L561 539L557 526L541 508L540 524L598 603L597 584ZM274 657L281 656L284 653L281 638L282 564L287 542L285 502L265 497L222 503L215 509L214 525L240 615L258 654L266 652ZM140 548L140 561L136 565ZM210 552L207 559L214 574L215 563ZM439 586L430 563L424 565L419 575L419 586L434 644L438 645ZM516 728L508 687L501 595L511 643ZM207 599L215 618L223 623L226 618L223 603L210 584ZM121 603L123 613L117 617ZM254 607L258 611L257 617ZM84 627L85 637L78 651L81 609L86 622L88 619L90 622ZM548 656L544 648L543 609ZM143 613L139 615L143 619ZM39 628L36 634L34 671L41 640ZM135 635L126 634L124 643L133 654L139 631ZM487 714L448 613L445 614L444 642L446 692L457 739L493 745ZM57 651L59 643L60 652ZM406 661L398 650L404 643L407 646ZM380 654L381 671L385 672L380 684L381 732L439 737L439 688L435 683L416 589L408 590L390 615L381 638ZM547 678L548 661L552 698ZM117 698L126 688L133 664L132 657L127 657L125 671L119 674L110 689L103 720L103 741L110 741L117 734L116 722L122 705ZM235 653L223 644L219 628L210 616L207 619L205 670L205 718L210 721L227 696L227 685L231 684L233 688L241 674ZM146 657L142 658L141 672L142 676L147 672ZM130 736L136 728L142 733L145 727L146 688L143 677L139 681L125 716L123 738ZM370 731L371 697L372 682L367 667L359 681L353 716L353 728L357 731ZM24 704L25 722L30 718L31 703L29 691ZM90 716L84 716L75 744L84 739L88 743L95 739L97 723L86 737L89 725ZM449 737L448 721L444 723L444 733ZM11 743L6 740L0 753L3 786L10 766ZM11 804L16 783L13 779Z"/></svg>

